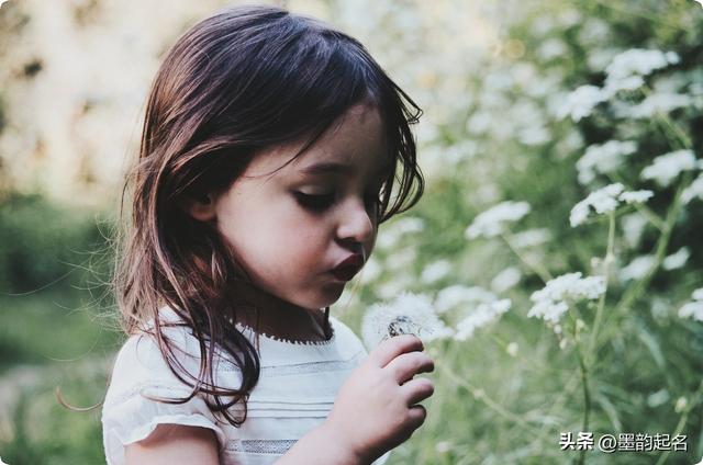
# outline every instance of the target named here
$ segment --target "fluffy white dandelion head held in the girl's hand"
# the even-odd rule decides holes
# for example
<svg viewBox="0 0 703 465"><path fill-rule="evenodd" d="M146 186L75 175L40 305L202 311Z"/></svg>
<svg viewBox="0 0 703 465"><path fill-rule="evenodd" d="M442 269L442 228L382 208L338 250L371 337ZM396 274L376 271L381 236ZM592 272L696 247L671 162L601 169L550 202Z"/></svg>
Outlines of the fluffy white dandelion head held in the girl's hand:
<svg viewBox="0 0 703 465"><path fill-rule="evenodd" d="M369 350L398 334L411 333L429 341L450 332L435 314L429 297L406 292L388 304L372 305L361 321L364 343Z"/></svg>

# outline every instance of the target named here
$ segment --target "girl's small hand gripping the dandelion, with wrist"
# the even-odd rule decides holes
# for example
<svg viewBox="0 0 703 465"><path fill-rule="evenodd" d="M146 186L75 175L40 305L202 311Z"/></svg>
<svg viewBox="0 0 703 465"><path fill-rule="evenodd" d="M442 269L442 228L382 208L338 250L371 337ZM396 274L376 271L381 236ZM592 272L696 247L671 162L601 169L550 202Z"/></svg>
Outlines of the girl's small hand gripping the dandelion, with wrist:
<svg viewBox="0 0 703 465"><path fill-rule="evenodd" d="M416 336L381 342L339 389L323 428L360 463L370 463L405 442L425 421L415 405L432 396L434 384L413 376L434 370Z"/></svg>

